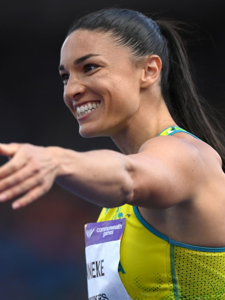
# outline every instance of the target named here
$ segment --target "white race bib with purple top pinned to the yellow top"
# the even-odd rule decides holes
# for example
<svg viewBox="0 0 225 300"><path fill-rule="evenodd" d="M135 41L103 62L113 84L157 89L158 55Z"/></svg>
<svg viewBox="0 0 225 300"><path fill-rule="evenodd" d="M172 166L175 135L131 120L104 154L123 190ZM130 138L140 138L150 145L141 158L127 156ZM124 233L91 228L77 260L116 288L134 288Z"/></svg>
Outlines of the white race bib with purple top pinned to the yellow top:
<svg viewBox="0 0 225 300"><path fill-rule="evenodd" d="M85 225L88 300L132 300L118 273L125 222L124 218Z"/></svg>

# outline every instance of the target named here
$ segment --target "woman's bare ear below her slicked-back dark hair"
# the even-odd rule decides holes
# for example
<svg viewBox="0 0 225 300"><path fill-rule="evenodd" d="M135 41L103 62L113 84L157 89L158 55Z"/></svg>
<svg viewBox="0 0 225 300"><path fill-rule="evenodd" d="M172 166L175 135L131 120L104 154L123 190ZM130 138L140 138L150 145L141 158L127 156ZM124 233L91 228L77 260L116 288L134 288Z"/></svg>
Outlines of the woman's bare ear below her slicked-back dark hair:
<svg viewBox="0 0 225 300"><path fill-rule="evenodd" d="M162 69L162 61L158 55L151 55L143 63L143 73L141 77L140 87L148 88L160 76Z"/></svg>

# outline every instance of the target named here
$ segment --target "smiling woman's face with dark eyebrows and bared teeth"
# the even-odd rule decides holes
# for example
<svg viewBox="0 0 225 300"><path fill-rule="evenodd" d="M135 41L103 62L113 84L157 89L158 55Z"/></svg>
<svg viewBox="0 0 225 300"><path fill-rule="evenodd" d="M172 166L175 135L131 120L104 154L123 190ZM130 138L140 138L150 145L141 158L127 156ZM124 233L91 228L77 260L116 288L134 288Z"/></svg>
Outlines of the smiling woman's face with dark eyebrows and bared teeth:
<svg viewBox="0 0 225 300"><path fill-rule="evenodd" d="M64 41L64 101L83 137L115 136L137 114L142 70L130 56L109 33L79 29Z"/></svg>

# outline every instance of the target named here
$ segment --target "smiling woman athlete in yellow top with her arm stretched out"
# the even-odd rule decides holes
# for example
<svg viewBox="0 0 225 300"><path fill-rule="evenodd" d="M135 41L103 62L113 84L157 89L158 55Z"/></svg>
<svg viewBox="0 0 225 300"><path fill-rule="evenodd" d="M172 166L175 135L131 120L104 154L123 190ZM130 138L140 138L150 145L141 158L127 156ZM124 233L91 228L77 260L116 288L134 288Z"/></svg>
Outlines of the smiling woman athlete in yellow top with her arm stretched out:
<svg viewBox="0 0 225 300"><path fill-rule="evenodd" d="M85 230L89 299L225 299L224 146L175 23L91 13L70 28L59 70L79 133L122 153L1 144L1 201L24 194L12 206L25 206L56 181L104 207Z"/></svg>

